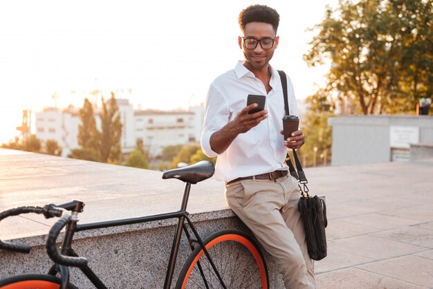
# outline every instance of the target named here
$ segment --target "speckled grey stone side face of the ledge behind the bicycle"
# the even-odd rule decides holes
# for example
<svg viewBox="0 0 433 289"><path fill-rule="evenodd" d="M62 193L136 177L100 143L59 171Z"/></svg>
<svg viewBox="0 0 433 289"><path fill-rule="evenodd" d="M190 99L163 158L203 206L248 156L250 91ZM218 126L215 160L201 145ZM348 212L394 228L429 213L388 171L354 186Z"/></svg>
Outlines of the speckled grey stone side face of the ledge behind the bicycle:
<svg viewBox="0 0 433 289"><path fill-rule="evenodd" d="M219 230L248 232L248 228L234 216L215 218L212 221L197 221L200 216L196 215L192 218L203 238ZM97 234L93 237L84 237L82 233L85 232L77 234L73 248L80 256L89 259L89 267L109 288L163 288L174 235L173 225L125 230L117 234ZM190 247L183 238L176 261L174 283L190 252ZM48 272L51 265L43 245L34 246L30 254L0 252L0 258L0 277L44 273ZM265 259L268 264L270 288L284 288L277 266L266 253ZM79 288L93 288L84 274L76 268L71 269L71 282Z"/></svg>

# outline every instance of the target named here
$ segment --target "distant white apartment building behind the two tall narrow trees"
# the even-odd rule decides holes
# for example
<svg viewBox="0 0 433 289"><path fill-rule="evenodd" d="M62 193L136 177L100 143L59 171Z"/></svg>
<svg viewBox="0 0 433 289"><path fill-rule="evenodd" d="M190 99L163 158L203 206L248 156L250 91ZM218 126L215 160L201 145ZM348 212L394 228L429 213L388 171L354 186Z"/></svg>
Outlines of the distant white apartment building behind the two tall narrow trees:
<svg viewBox="0 0 433 289"><path fill-rule="evenodd" d="M118 99L123 153L129 153L141 139L150 156L158 156L168 145L187 145L199 142L203 126L204 106L190 107L189 111L134 110L129 100ZM95 121L101 127L99 111ZM63 156L79 148L77 142L80 125L78 109L45 109L35 113L36 136L42 142L56 140L62 147Z"/></svg>

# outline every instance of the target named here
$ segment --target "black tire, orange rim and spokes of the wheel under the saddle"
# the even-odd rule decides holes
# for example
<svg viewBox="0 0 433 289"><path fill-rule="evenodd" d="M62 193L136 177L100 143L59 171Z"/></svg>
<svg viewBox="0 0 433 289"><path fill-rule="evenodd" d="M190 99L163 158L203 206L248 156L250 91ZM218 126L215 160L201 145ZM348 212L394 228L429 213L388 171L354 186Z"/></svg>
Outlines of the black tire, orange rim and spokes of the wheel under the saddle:
<svg viewBox="0 0 433 289"><path fill-rule="evenodd" d="M230 237L228 237L230 235ZM232 240L233 238L231 236L239 236L235 237L234 239L242 239L242 240L246 240L246 243L250 243L250 248L252 248L252 250L255 250L255 252L252 252L250 248L248 248L246 245L244 245L242 242L244 241L235 241ZM222 240L222 241L217 241L217 240ZM230 241L230 243L228 242ZM247 242L248 241L248 242ZM213 245L208 245L210 243L214 243ZM263 257L263 254L261 253L261 250L259 249L259 246L257 245L257 243L250 237L250 235L243 233L243 232L239 232L239 231L235 231L235 230L223 230L221 232L216 232L215 234L212 234L211 236L209 236L207 239L205 239L205 241L203 241L203 243L205 244L206 248L208 248L208 252L210 252L211 257L212 257L212 261L214 262L220 262L221 260L216 260L215 256L212 256L212 254L214 254L214 252L212 252L212 249L218 250L218 248L216 248L216 245L221 245L223 246L222 243L224 243L224 246L227 245L230 247L233 247L233 245L235 245L237 247L237 257L239 257L239 251L243 251L241 252L242 254L245 253L248 258L250 258L253 261L250 261L250 263L248 264L248 266L245 266L245 264L243 264L243 272L248 272L248 270L245 270L245 268L249 268L250 270L252 270L252 272L255 272L255 265L257 265L257 273L260 276L260 284L258 287L252 287L250 284L249 285L240 285L239 283L235 283L237 280L239 280L239 276L236 279L233 279L233 276L230 276L230 281L232 281L233 283L229 283L229 281L225 278L227 278L226 274L228 274L228 271L230 271L230 274L232 274L232 270L221 270L223 269L223 263L220 264L216 264L216 268L218 268L219 273L222 275L221 277L223 278L225 285L227 286L227 288L231 288L231 289L241 289L241 288L269 288L269 277L268 277L268 269L266 267L266 262L265 259ZM251 247L252 246L252 247ZM219 250L219 254L220 257L222 257L222 252L223 250L220 249ZM230 250L228 250L230 251ZM231 255L231 253L234 250L230 251L230 252L225 252L224 254L228 254L230 261L233 261L232 259L237 260L238 258L233 258ZM199 257L199 254L201 254L201 256ZM258 258L259 260L257 260L256 258ZM221 258L222 259L222 258ZM181 273L179 274L178 280L176 282L176 289L183 289L183 288L202 288L200 284L198 283L194 283L194 284L190 284L187 285L187 283L190 281L190 279L192 279L192 274L195 274L196 276L198 276L197 272L193 271L198 271L198 266L197 266L197 261L200 261L200 263L202 264L202 267L206 267L206 269L210 272L209 274L211 274L210 276L208 276L208 278L213 279L214 282L216 282L217 284L219 284L219 281L216 277L216 274L213 273L212 271L212 267L210 266L210 264L206 264L206 262L208 261L207 257L205 257L205 254L203 252L203 250L201 249L200 246L198 246L197 248L194 249L194 251L190 254L190 257L188 257L187 261L185 261L185 264L183 265L183 268L181 270ZM230 263L230 261L228 263ZM252 264L252 265L251 265ZM227 265L227 264L225 264ZM230 264L230 265L234 265L234 264ZM220 268L219 268L220 266ZM261 268L261 266L263 268ZM195 269L194 269L195 268ZM208 272L207 271L207 272ZM225 272L224 272L225 271ZM212 275L213 274L213 275ZM254 273L255 274L255 273ZM263 277L266 280L262 280ZM185 278L187 279L185 281ZM202 280L201 277L198 278L199 280ZM242 280L245 280L244 278ZM251 279L246 279L248 281L251 281ZM210 280L208 280L210 281ZM194 280L192 280L192 282L194 282ZM205 288L205 285L203 283L203 288ZM213 288L213 287L212 287ZM221 288L221 287L217 287L217 288Z"/></svg>

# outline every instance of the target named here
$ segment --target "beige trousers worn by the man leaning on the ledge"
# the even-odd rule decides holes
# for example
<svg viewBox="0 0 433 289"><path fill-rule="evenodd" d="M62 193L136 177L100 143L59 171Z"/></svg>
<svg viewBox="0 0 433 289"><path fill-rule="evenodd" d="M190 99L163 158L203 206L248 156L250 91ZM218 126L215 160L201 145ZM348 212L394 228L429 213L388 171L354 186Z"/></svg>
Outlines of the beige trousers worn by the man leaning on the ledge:
<svg viewBox="0 0 433 289"><path fill-rule="evenodd" d="M229 207L280 265L286 288L315 288L304 225L297 212L297 180L241 180L225 186Z"/></svg>

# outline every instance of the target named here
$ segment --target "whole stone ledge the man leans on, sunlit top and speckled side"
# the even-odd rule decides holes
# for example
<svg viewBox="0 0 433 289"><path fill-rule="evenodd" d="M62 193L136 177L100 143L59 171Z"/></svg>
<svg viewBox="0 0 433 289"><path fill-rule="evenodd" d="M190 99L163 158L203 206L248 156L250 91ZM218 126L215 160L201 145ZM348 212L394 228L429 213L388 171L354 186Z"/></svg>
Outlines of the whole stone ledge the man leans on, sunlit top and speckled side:
<svg viewBox="0 0 433 289"><path fill-rule="evenodd" d="M162 180L159 171L0 149L0 210L21 205L86 204L79 223L133 218L181 207L183 182ZM223 183L192 185L187 211L205 239L219 230L249 232L227 207ZM0 279L23 273L46 273L51 261L44 244L55 218L26 214L1 222L1 238L32 246L30 254L0 251ZM77 232L73 248L109 288L162 288L176 220ZM284 288L272 258L264 252L271 288ZM176 262L174 283L190 254L185 238ZM246 264L248 265L248 264ZM239 268L242 270L242 268ZM73 268L71 281L93 288Z"/></svg>

